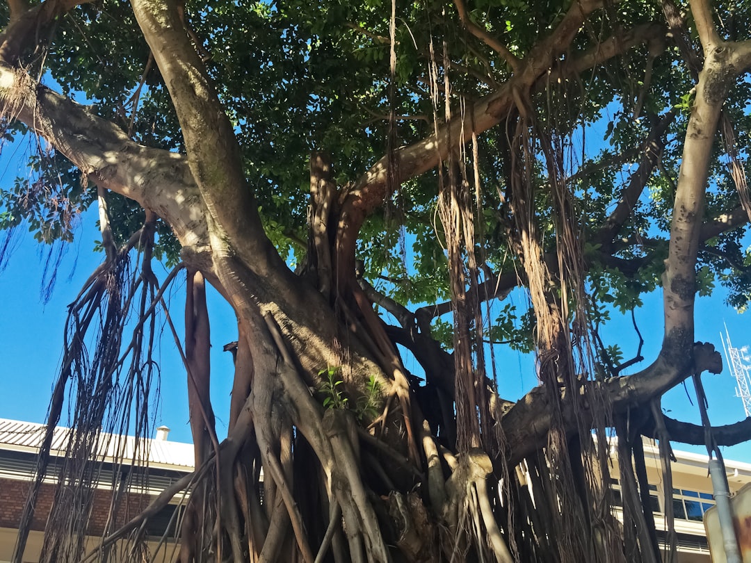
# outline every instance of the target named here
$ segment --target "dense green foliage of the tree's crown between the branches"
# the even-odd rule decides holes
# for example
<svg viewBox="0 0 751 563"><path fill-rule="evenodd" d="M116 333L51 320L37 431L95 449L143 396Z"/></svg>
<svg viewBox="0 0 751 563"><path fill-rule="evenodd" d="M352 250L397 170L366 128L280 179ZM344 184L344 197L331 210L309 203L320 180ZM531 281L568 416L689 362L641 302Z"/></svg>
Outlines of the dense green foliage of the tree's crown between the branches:
<svg viewBox="0 0 751 563"><path fill-rule="evenodd" d="M502 38L518 58L550 35L570 5L570 0L466 2L470 19ZM728 38L751 27L747 11L730 6L716 6ZM385 155L392 108L405 117L397 119L394 131L402 146L431 134L434 118L442 122L443 102L433 105L430 68L440 75L448 71L454 115L495 92L511 76L507 62L460 25L451 2L399 2L392 78L390 8L380 0L209 0L185 6L195 47L234 126L246 182L255 194L265 232L285 259L302 263L306 251L308 158L313 149L330 152L333 176L344 188ZM6 12L2 8L0 17L7 18ZM664 15L653 2L596 11L556 65L563 68L584 53L596 52L600 41L654 22L664 23ZM695 95L691 72L671 38L667 41L665 50L644 42L578 76L541 80L529 96L535 134L544 131L556 137L566 155L561 166L569 179L592 289L587 309L598 325L608 322L610 311L641 306L644 294L662 283L683 135ZM650 77L645 61L650 61ZM127 3L102 0L71 11L23 64L53 89L92 104L92 112L115 122L138 143L184 151L164 80L150 61ZM723 107L734 124L742 157L751 146L749 98L751 83L740 81ZM660 166L650 173L644 192L613 239L599 239L638 169L644 140L674 109L677 116L665 134ZM478 199L472 194L471 202L476 209L475 251L481 267L496 275L523 271L514 247L510 133L503 126L492 128L478 137L477 161L466 155L469 176L476 166L481 180ZM3 131L5 143L23 134L25 129L18 126ZM529 197L535 227L542 251L554 255L559 244L557 219L538 138L532 139L532 151L537 161L530 168ZM705 221L739 204L722 143L716 143L711 162ZM71 240L77 215L91 206L95 194L53 151L35 150L29 170L0 186L0 229L24 224L41 242ZM410 309L451 298L445 233L436 218L439 185L447 172L430 171L400 185L382 212L368 218L357 241L365 278ZM115 195L108 203L115 239L125 241L142 224L142 210ZM751 299L746 233L743 228L729 230L706 241L697 265L698 293L709 294L722 286L728 303L739 310ZM161 221L157 241L155 257L176 263L179 245ZM492 316L485 330L491 341L520 351L532 349L534 312L502 303ZM451 350L454 328L448 317L433 320L432 326L433 336Z"/></svg>

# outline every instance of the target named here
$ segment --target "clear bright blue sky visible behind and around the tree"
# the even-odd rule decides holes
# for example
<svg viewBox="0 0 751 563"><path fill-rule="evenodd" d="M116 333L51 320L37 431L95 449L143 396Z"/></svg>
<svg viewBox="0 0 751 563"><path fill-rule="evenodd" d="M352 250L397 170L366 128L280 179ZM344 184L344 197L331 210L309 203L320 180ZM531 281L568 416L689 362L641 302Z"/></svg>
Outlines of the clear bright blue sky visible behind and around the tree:
<svg viewBox="0 0 751 563"><path fill-rule="evenodd" d="M28 143L28 141L27 141ZM26 145L28 147L28 144ZM23 143L20 150L5 146L0 155L0 182L11 182L17 174L23 175ZM19 158L22 157L22 158ZM0 315L0 357L2 363L2 387L0 387L0 417L33 422L44 422L50 392L55 381L61 359L62 333L65 324L66 307L74 300L83 281L100 263L102 255L92 252L93 241L98 239L95 229L96 215L89 212L83 217L82 225L74 245L62 261L58 281L51 300L45 305L40 298L41 278L44 258L41 249L29 233L17 236L17 248L10 263L0 274L0 292L5 295L5 314ZM0 233L2 236L2 233ZM165 272L157 272L164 278ZM178 330L182 330L182 306L184 276L173 287L171 314ZM217 430L220 436L226 432L226 416L229 411L229 396L233 370L231 355L222 351L223 346L237 339L237 328L231 309L222 303L221 298L210 288L214 298L210 298L212 333L212 401L215 407ZM724 292L718 288L712 297L700 297L696 306L695 339L712 342L721 350L719 333L727 324L731 339L736 347L751 345L749 320L751 314L738 315L723 303ZM509 299L520 299L512 294ZM636 312L641 333L644 336L645 360L634 366L632 372L647 366L659 351L662 341L662 295L656 292L644 297L645 304ZM523 309L523 303L517 303ZM638 339L632 329L630 315L613 315L614 320L602 333L606 344L617 343L623 350L626 360L636 354ZM157 357L161 358L161 405L155 414L155 426L166 424L172 432L170 439L190 441L188 424L185 370L166 324ZM407 368L415 372L416 366ZM515 352L498 351L496 362L499 367L500 393L508 399L516 399L535 384L534 361ZM723 363L725 359L723 358ZM734 423L744 417L743 405L735 397L735 382L727 366L722 375L704 375L704 386L709 401L709 415L713 424ZM690 397L690 399L689 399ZM679 386L666 396L663 406L671 417L698 423L698 408L692 384ZM693 404L692 404L693 403ZM62 420L62 423L65 423ZM701 452L701 447L683 447ZM751 462L751 444L728 448L725 456L730 459Z"/></svg>

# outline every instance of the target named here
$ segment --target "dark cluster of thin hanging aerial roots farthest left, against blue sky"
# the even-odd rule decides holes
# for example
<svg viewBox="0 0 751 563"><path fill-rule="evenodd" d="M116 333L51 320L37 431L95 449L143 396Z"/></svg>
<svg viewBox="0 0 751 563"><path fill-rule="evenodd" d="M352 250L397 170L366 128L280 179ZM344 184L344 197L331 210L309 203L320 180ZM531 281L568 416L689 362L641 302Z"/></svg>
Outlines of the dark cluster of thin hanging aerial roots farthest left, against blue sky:
<svg viewBox="0 0 751 563"><path fill-rule="evenodd" d="M152 357L155 314L164 291L174 278L174 272L182 267L178 266L173 270L161 287L159 286L150 266L156 218L149 212L146 212L143 227L121 248L114 248L103 192L100 191L99 196L102 236L103 240L107 240L107 257L89 276L76 300L69 307L65 354L48 415L47 435L51 436L59 422L66 387L73 381L76 387L70 393L75 400L74 420L71 423L74 432L71 433L68 453L65 456L66 468L61 479L66 483L74 483L74 486L65 490L75 498L60 497L56 507L62 507L62 510L65 510L71 501L82 507L89 502L86 498L91 498L92 492L81 477L86 479L86 475L98 471L96 466L99 458L92 453L110 447L109 440L115 438L107 436L133 432L133 423L137 441L149 435L149 424L152 420L149 399L153 381L158 377L158 366ZM129 275L129 254L134 248L142 252L140 272L134 270L133 274ZM135 324L131 324L132 318L136 319ZM97 320L98 323L95 322ZM126 330L131 331L132 336L123 348L122 336ZM87 345L92 338L95 345L91 348L92 351L89 351ZM103 434L102 430L106 433ZM117 444L114 449L120 450ZM133 457L129 460L131 466L137 465L140 461L140 449L140 445L134 448ZM48 445L42 448L39 456L39 482L46 474L49 456ZM122 498L136 478L134 471L125 471L127 461L116 460L116 471L124 471L125 480L122 481L122 486L113 491L110 513L103 531L104 537L110 537L114 533L113 529L119 523L117 515L119 507L122 506ZM70 474L70 477L65 477L66 474ZM26 509L29 515L33 514L34 502L35 494L32 491ZM77 561L83 556L84 543L74 542L77 541L75 537L83 537L86 534L86 519L89 512L82 508L77 513L85 520L80 523L80 531L71 532L68 539L59 537L56 532L59 525L53 523L50 540L46 543L48 547L45 548L45 558ZM69 513L55 517L65 520ZM28 533L25 529L27 528L22 524L17 555L14 558L20 558L23 554ZM143 533L137 532L132 535L129 542L132 549L135 549L134 552L137 552L141 549L137 544L143 543ZM98 548L98 553L102 557L107 557L110 548L109 543L104 544Z"/></svg>

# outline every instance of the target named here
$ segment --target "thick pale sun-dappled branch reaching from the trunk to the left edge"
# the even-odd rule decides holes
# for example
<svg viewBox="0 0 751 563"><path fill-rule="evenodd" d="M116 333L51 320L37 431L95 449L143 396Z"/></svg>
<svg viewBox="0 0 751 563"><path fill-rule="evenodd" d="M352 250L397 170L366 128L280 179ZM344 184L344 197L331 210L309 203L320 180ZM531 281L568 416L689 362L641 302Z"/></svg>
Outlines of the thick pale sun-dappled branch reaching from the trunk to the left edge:
<svg viewBox="0 0 751 563"><path fill-rule="evenodd" d="M3 63L0 113L23 122L96 185L155 212L183 247L205 250L201 194L183 155L134 143L113 123Z"/></svg>

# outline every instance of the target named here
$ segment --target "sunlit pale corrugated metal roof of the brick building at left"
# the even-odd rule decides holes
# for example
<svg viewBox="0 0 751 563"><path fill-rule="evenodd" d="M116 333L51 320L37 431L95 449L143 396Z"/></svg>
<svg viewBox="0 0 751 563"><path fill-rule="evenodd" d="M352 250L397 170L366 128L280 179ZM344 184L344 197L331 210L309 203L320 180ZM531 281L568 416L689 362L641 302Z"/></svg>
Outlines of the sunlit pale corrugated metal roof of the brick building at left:
<svg viewBox="0 0 751 563"><path fill-rule="evenodd" d="M0 450L38 450L44 440L46 427L39 423L0 418ZM56 427L52 440L53 455L65 455L65 446L70 435L71 429L63 426ZM113 462L116 459L122 459L125 464L128 464L135 459L137 465L146 465L144 462L147 462L152 467L179 468L181 471L192 471L195 463L192 444L142 438L137 444L138 452L136 452L136 440L133 436L107 432L99 433L98 442L98 455L104 456L105 461Z"/></svg>

